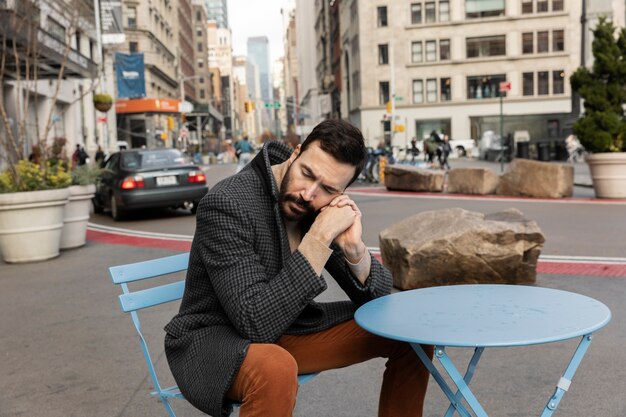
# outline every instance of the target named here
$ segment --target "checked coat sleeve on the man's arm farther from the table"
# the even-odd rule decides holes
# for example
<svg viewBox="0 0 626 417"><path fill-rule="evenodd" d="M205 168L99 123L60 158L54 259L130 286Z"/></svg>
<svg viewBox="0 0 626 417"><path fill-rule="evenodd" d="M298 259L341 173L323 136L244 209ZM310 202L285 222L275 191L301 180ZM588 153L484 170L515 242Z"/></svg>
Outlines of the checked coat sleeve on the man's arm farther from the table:
<svg viewBox="0 0 626 417"><path fill-rule="evenodd" d="M278 239L256 241L255 221L233 199L208 194L198 207L194 246L238 333L255 343L271 343L326 289L326 283L298 251L277 274L269 275L258 245L278 245Z"/></svg>

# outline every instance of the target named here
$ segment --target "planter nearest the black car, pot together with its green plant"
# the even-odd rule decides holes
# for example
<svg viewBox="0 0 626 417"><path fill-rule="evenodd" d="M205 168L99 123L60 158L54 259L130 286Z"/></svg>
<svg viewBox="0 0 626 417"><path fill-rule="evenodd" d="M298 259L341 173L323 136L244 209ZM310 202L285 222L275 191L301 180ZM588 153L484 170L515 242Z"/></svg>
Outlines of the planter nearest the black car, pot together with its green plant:
<svg viewBox="0 0 626 417"><path fill-rule="evenodd" d="M87 241L91 199L96 193L96 181L102 171L96 164L81 165L72 170L69 201L63 217L61 249L77 248Z"/></svg>

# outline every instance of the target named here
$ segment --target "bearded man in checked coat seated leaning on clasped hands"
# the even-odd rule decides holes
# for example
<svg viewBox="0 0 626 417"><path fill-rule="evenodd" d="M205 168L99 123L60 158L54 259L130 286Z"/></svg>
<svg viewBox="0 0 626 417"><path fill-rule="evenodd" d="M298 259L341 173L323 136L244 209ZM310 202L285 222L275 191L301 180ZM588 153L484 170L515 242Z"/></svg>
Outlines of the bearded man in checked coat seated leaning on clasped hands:
<svg viewBox="0 0 626 417"><path fill-rule="evenodd" d="M366 157L358 129L328 120L293 152L268 142L203 198L180 312L165 328L170 368L194 406L223 416L239 401L242 417L291 416L299 373L387 357L379 416L422 415L428 371L417 355L353 320L391 287L344 194ZM324 268L350 300L314 301Z"/></svg>

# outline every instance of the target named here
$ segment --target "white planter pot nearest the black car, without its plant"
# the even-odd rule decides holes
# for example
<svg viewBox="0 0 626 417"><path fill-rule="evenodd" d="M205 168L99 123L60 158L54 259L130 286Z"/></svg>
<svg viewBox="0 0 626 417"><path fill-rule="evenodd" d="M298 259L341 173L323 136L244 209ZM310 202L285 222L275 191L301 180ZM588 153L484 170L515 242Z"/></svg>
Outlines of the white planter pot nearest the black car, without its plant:
<svg viewBox="0 0 626 417"><path fill-rule="evenodd" d="M69 190L69 202L65 206L63 216L61 249L77 248L87 241L87 222L96 186L94 184L72 185Z"/></svg>

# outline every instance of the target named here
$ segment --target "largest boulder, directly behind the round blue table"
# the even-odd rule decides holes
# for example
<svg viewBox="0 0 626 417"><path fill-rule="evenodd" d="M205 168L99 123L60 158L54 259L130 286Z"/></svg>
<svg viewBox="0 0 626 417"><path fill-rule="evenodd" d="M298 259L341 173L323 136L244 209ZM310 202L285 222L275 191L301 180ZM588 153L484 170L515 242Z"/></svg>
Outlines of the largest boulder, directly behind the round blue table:
<svg viewBox="0 0 626 417"><path fill-rule="evenodd" d="M516 209L482 214L460 208L426 211L380 233L394 286L521 284L536 280L545 238Z"/></svg>

